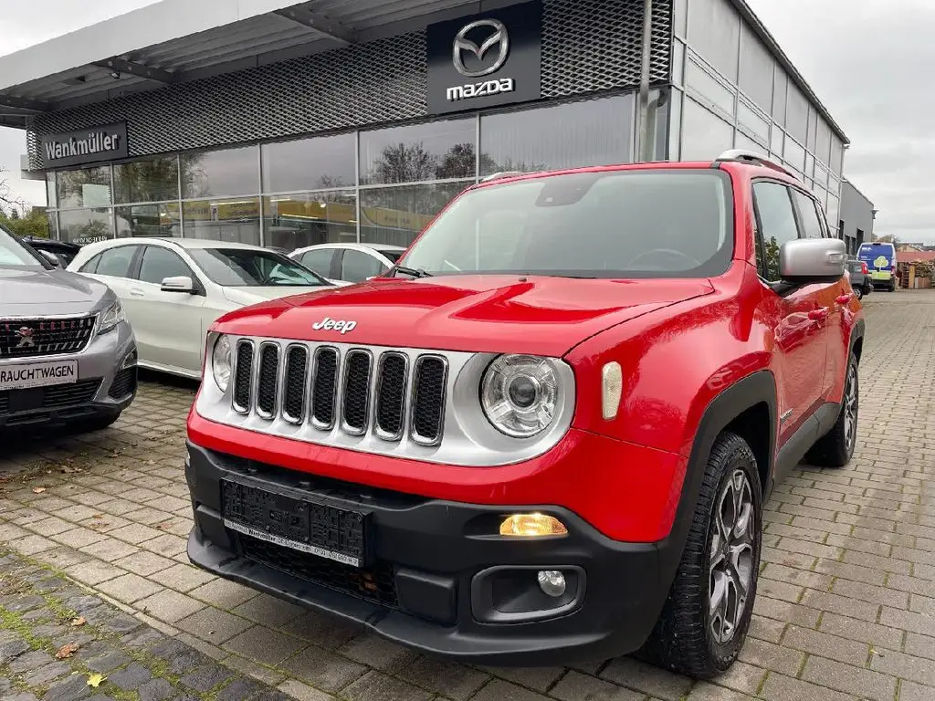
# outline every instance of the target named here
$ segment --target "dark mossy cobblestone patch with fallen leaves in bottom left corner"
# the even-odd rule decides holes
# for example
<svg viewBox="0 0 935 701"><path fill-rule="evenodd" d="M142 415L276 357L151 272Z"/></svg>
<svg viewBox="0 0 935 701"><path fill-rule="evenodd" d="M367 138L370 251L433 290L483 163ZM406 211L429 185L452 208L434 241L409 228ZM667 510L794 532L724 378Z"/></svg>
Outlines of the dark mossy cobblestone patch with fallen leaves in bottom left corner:
<svg viewBox="0 0 935 701"><path fill-rule="evenodd" d="M232 695L234 694L234 695ZM0 699L288 701L289 696L0 547Z"/></svg>

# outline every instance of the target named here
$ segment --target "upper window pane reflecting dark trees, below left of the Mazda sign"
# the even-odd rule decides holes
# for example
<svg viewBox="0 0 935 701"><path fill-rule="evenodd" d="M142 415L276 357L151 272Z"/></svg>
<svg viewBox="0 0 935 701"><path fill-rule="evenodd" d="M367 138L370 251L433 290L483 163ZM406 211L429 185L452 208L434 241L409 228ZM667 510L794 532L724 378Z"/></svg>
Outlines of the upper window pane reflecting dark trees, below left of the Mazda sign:
<svg viewBox="0 0 935 701"><path fill-rule="evenodd" d="M360 134L362 185L473 178L476 122L448 120Z"/></svg>

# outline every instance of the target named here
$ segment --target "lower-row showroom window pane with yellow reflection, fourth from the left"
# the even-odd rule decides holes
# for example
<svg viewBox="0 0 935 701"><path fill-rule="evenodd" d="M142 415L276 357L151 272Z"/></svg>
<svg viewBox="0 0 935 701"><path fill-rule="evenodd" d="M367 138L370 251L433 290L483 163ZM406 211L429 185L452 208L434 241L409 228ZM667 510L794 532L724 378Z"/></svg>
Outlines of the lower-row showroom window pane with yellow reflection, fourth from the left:
<svg viewBox="0 0 935 701"><path fill-rule="evenodd" d="M264 197L266 246L295 250L321 243L357 241L353 191Z"/></svg>

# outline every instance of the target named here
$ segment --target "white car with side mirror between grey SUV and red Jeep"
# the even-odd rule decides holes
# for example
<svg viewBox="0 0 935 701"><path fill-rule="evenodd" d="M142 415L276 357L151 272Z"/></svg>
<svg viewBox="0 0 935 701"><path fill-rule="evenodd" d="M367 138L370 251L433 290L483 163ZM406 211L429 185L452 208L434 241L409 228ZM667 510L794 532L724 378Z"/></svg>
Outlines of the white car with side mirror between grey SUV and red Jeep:
<svg viewBox="0 0 935 701"><path fill-rule="evenodd" d="M106 282L137 334L139 365L201 377L205 333L223 313L334 286L273 250L194 238L117 238L68 269Z"/></svg>

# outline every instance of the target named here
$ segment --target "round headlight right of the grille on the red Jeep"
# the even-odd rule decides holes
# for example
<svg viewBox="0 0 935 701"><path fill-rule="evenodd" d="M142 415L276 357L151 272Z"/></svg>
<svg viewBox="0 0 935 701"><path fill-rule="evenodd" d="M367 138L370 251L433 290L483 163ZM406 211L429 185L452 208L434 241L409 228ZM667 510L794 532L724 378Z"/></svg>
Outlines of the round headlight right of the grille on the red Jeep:
<svg viewBox="0 0 935 701"><path fill-rule="evenodd" d="M487 420L500 433L530 438L555 417L558 376L547 358L501 355L484 373L481 404Z"/></svg>

